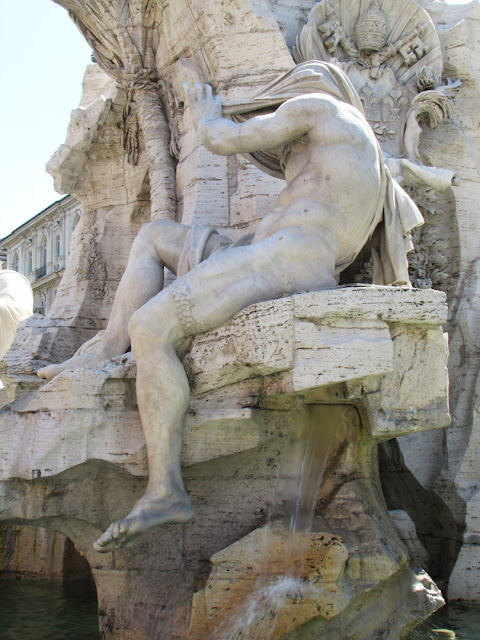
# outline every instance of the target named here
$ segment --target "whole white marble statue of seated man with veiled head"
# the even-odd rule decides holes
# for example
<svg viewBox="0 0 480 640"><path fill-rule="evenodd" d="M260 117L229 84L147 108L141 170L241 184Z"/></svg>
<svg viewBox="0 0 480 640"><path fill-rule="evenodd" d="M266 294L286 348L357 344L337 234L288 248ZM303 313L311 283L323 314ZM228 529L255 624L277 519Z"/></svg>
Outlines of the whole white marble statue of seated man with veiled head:
<svg viewBox="0 0 480 640"><path fill-rule="evenodd" d="M254 302L336 286L338 273L382 220L383 279L390 274L390 283L407 284L405 239L421 223L413 202L392 185L358 96L336 67L299 65L263 97L226 105L224 111L240 122L224 117L209 85L188 89L188 100L208 149L251 154L270 173L282 172L286 186L255 234L236 242L175 222L145 225L104 335L67 362L38 372L50 380L67 368L94 367L131 343L149 481L132 511L97 540L98 551L128 546L153 525L192 516L180 468L190 395L177 357L182 341ZM255 115L259 109L262 115ZM165 289L164 266L178 276Z"/></svg>

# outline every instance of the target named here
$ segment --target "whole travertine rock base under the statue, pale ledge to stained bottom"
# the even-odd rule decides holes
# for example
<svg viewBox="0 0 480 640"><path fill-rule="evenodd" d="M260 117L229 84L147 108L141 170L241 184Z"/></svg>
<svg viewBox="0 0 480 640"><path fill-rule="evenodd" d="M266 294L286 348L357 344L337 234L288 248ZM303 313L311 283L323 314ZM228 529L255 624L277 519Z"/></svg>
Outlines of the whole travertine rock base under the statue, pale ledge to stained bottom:
<svg viewBox="0 0 480 640"><path fill-rule="evenodd" d="M182 457L194 520L152 529L106 557L92 542L146 484L135 363L125 355L66 371L1 413L1 517L73 540L92 568L106 638L207 638L223 619L217 605L232 610L255 582L260 557L247 551L266 524L287 435L312 405L318 428L333 431L307 554L309 580L324 595L302 599L293 627L299 605L287 603L276 637L308 637L314 625L367 640L401 609L402 625L385 636L399 638L441 599L408 569L376 443L448 424L445 314L438 292L341 288L252 305L185 345L193 394ZM352 611L371 613L374 601L376 622L354 624Z"/></svg>

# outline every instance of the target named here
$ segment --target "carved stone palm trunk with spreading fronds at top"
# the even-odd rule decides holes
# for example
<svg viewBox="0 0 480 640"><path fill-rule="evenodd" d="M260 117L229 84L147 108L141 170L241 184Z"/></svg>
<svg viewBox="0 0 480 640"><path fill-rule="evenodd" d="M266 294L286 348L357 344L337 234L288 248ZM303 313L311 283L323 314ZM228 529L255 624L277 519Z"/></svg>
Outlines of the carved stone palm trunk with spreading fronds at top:
<svg viewBox="0 0 480 640"><path fill-rule="evenodd" d="M127 91L123 144L138 158L137 119L145 142L152 218L176 217L175 161L171 153L165 84L155 67L158 4L155 0L53 0L93 49L96 62ZM154 43L157 43L156 45Z"/></svg>

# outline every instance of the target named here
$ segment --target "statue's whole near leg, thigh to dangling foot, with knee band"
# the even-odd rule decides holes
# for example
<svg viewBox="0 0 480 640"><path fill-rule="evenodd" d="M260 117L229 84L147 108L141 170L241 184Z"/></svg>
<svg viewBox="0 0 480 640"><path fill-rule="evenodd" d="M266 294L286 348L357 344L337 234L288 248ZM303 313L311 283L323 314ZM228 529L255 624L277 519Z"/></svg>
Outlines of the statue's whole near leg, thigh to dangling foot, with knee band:
<svg viewBox="0 0 480 640"><path fill-rule="evenodd" d="M253 302L333 287L334 266L333 249L321 233L287 229L248 247L214 254L132 316L149 481L132 511L94 544L97 551L128 546L153 525L186 522L192 516L180 467L182 422L190 397L176 354L181 341L219 326Z"/></svg>

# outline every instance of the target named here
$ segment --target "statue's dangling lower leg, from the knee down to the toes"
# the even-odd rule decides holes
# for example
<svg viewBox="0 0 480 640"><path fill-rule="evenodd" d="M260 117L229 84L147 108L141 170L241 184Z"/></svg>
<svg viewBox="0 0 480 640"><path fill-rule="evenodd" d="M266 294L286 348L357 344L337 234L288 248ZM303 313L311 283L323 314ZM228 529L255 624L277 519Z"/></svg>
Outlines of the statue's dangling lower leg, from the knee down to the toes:
<svg viewBox="0 0 480 640"><path fill-rule="evenodd" d="M158 305L159 313L156 313ZM180 469L183 414L190 389L175 345L184 337L171 295L162 291L130 321L137 361L137 401L147 444L149 481L126 518L113 523L94 544L97 551L129 546L156 524L187 522L193 515Z"/></svg>

